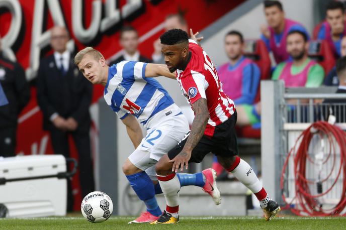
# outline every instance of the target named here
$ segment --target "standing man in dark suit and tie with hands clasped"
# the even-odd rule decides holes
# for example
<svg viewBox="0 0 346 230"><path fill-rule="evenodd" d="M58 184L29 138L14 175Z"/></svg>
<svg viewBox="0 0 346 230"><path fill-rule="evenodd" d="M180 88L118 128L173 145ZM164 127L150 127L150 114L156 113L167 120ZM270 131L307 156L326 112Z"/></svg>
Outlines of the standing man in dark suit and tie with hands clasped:
<svg viewBox="0 0 346 230"><path fill-rule="evenodd" d="M91 118L89 106L93 86L73 64L73 55L66 49L69 35L64 27L51 30L54 54L43 58L37 75L37 101L43 112L43 128L48 130L55 154L69 157L68 136L78 151L81 195L94 191L90 147ZM68 183L67 209L73 204Z"/></svg>

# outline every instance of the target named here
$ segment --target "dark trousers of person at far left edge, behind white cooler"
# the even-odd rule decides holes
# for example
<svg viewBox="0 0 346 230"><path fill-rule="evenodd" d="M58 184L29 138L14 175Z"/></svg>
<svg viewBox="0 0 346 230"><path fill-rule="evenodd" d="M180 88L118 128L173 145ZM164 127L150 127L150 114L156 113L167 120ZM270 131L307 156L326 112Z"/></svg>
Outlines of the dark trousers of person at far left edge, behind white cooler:
<svg viewBox="0 0 346 230"><path fill-rule="evenodd" d="M16 156L17 127L0 128L0 157Z"/></svg>

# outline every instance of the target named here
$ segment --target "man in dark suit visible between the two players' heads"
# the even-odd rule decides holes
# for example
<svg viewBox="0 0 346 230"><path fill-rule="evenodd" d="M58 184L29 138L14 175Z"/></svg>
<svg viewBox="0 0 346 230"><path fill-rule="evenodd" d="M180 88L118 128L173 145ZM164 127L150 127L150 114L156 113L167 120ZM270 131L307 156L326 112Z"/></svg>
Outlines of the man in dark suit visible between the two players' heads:
<svg viewBox="0 0 346 230"><path fill-rule="evenodd" d="M138 51L138 33L132 26L124 26L120 30L120 46L124 49L123 55L110 63L110 66L121 61L140 61L151 63L152 61Z"/></svg>

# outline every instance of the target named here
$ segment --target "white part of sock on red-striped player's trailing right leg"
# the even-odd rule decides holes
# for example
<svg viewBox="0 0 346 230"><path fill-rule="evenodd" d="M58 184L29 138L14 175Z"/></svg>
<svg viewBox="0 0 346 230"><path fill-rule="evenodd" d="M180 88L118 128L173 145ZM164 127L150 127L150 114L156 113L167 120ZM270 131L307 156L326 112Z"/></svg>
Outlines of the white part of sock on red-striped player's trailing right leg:
<svg viewBox="0 0 346 230"><path fill-rule="evenodd" d="M242 159L240 159L238 166L232 171L232 173L253 193L257 193L263 188L261 181L258 180L250 165Z"/></svg>

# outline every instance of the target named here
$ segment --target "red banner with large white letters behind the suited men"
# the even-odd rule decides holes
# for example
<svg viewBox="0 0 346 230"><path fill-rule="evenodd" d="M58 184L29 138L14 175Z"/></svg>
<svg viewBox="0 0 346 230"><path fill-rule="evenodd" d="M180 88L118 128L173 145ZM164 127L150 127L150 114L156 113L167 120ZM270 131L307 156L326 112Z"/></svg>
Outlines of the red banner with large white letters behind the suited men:
<svg viewBox="0 0 346 230"><path fill-rule="evenodd" d="M49 135L42 130L42 113L37 106L35 73L40 58L52 53L49 29L65 26L72 46L80 50L93 46L106 59L121 51L119 30L131 25L138 30L139 50L151 57L153 42L163 33L168 14L182 13L194 32L201 31L244 0L4 0L0 3L2 49L26 69L31 82L31 100L19 117L18 154L52 154ZM94 87L93 103L103 95ZM97 136L95 125L93 136ZM95 140L94 140L95 141ZM93 138L92 138L93 143ZM93 145L95 148L95 145ZM93 150L94 151L94 150ZM74 147L72 157L77 158ZM73 187L79 206L78 175Z"/></svg>

